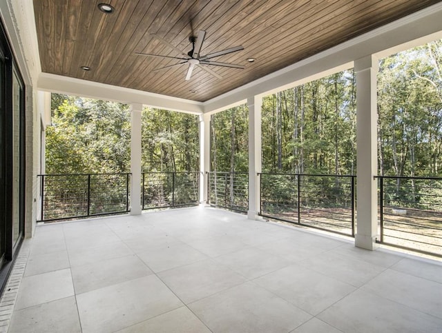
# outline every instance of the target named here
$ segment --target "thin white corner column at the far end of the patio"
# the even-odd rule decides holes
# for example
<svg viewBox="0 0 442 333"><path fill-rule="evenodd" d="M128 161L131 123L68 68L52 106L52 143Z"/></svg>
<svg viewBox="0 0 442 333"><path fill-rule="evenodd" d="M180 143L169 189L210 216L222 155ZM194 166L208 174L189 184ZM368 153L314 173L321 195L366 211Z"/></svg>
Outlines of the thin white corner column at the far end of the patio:
<svg viewBox="0 0 442 333"><path fill-rule="evenodd" d="M200 114L200 205L207 203L210 171L210 114Z"/></svg>

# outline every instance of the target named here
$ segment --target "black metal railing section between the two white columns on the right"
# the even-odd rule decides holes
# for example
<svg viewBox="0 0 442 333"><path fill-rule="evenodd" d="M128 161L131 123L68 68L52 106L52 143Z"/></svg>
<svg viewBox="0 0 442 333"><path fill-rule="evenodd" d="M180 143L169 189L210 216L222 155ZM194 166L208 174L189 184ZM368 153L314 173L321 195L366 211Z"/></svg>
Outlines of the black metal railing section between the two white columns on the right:
<svg viewBox="0 0 442 333"><path fill-rule="evenodd" d="M258 175L262 216L354 236L356 176Z"/></svg>

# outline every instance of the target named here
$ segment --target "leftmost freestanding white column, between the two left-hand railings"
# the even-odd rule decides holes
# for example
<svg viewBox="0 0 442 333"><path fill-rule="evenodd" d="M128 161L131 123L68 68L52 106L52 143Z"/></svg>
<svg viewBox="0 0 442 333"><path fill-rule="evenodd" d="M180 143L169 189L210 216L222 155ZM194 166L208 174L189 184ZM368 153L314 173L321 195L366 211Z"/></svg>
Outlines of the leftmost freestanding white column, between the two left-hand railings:
<svg viewBox="0 0 442 333"><path fill-rule="evenodd" d="M141 112L143 105L133 103L131 110L131 215L140 215L141 206Z"/></svg>

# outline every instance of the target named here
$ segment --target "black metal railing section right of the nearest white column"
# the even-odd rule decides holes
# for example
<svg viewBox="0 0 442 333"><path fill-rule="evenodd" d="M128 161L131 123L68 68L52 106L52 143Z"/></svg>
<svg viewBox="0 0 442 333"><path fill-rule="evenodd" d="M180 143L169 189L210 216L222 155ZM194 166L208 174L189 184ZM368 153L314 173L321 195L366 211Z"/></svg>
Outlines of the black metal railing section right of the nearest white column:
<svg viewBox="0 0 442 333"><path fill-rule="evenodd" d="M377 176L380 243L442 256L442 178Z"/></svg>

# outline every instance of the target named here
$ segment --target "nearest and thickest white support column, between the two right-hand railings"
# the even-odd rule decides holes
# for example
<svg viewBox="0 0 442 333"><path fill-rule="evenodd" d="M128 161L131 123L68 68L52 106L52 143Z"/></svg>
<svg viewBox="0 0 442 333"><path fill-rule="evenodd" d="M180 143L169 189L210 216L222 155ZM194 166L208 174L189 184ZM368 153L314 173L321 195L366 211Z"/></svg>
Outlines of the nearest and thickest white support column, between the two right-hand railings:
<svg viewBox="0 0 442 333"><path fill-rule="evenodd" d="M376 74L378 60L373 56L354 61L356 72L356 175L358 210L355 245L358 248L378 248L377 180L377 112Z"/></svg>

